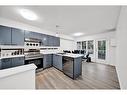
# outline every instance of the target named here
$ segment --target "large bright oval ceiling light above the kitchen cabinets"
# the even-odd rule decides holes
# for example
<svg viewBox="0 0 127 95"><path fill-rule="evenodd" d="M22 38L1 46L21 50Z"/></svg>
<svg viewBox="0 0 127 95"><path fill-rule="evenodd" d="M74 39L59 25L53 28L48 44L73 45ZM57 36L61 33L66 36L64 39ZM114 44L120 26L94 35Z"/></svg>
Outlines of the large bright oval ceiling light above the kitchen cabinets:
<svg viewBox="0 0 127 95"><path fill-rule="evenodd" d="M34 12L28 9L21 9L20 14L27 20L37 20L38 18Z"/></svg>

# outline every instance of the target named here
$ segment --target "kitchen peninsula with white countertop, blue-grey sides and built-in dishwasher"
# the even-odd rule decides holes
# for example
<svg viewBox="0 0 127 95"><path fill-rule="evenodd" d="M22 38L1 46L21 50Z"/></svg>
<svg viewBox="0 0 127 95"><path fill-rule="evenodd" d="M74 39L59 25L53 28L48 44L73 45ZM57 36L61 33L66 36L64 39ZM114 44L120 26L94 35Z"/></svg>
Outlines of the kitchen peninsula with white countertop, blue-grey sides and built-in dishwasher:
<svg viewBox="0 0 127 95"><path fill-rule="evenodd" d="M72 79L76 79L82 74L82 56L81 54L54 54L55 68L63 71L63 73ZM56 57L56 58L55 58Z"/></svg>

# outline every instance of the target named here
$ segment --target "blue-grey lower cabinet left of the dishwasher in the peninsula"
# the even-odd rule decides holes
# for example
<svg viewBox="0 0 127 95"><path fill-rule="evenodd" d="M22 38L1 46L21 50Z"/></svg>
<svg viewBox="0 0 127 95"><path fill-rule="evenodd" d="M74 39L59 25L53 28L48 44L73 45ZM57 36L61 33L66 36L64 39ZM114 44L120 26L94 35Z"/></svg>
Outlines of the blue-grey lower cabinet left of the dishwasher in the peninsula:
<svg viewBox="0 0 127 95"><path fill-rule="evenodd" d="M61 71L63 70L63 63L62 63L62 56L61 55L53 54L53 67L55 67Z"/></svg>

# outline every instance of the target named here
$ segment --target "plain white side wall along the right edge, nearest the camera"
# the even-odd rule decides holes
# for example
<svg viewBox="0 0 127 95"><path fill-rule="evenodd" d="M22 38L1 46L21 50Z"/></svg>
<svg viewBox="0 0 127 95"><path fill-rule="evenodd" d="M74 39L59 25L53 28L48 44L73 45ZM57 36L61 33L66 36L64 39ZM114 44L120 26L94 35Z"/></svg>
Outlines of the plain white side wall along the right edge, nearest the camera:
<svg viewBox="0 0 127 95"><path fill-rule="evenodd" d="M127 89L127 7L121 8L117 26L117 73L120 86Z"/></svg>

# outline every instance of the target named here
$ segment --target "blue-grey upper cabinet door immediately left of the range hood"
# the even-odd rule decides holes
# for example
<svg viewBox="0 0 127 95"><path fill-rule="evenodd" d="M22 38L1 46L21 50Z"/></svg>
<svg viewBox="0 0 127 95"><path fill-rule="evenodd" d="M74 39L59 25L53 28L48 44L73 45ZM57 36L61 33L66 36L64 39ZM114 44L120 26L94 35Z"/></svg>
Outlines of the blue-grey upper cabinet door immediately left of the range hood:
<svg viewBox="0 0 127 95"><path fill-rule="evenodd" d="M24 45L24 30L12 28L12 44Z"/></svg>

